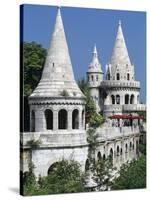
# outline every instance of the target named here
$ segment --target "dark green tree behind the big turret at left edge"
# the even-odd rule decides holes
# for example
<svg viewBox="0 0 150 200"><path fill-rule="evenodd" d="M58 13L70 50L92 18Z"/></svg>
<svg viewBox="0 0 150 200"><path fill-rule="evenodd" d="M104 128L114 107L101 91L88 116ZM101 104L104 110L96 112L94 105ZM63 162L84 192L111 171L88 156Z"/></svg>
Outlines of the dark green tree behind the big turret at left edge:
<svg viewBox="0 0 150 200"><path fill-rule="evenodd" d="M46 50L36 42L23 43L24 96L29 96L38 84Z"/></svg>

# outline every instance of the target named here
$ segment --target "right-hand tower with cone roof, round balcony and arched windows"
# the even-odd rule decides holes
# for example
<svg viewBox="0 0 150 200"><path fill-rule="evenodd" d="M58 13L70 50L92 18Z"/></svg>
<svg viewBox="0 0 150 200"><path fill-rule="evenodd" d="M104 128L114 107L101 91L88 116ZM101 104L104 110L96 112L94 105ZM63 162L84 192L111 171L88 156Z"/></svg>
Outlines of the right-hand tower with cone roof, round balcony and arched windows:
<svg viewBox="0 0 150 200"><path fill-rule="evenodd" d="M106 65L106 80L101 83L101 89L106 93L103 110L105 115L128 112L125 104L139 104L140 83L135 81L134 66L128 55L121 21L110 62Z"/></svg>

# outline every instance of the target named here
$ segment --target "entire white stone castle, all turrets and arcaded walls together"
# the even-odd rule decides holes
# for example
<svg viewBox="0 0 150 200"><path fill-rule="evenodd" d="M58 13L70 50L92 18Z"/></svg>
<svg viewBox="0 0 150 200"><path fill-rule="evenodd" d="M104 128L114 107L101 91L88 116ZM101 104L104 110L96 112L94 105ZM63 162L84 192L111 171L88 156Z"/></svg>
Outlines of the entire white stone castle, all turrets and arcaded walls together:
<svg viewBox="0 0 150 200"><path fill-rule="evenodd" d="M145 110L145 105L139 103L140 83L135 81L121 22L105 79L103 76L95 45L87 79L97 112L106 118L103 126L96 130L99 146L95 160L111 154L113 165L119 169L138 156L141 120L136 112ZM36 177L46 176L51 166L62 159L78 161L85 171L89 146L85 96L74 79L60 9L42 77L29 97L29 106L30 132L21 133L21 171L28 171L32 161ZM130 119L112 117L127 116L130 112L134 118L131 115ZM40 141L40 144L32 148L30 141Z"/></svg>

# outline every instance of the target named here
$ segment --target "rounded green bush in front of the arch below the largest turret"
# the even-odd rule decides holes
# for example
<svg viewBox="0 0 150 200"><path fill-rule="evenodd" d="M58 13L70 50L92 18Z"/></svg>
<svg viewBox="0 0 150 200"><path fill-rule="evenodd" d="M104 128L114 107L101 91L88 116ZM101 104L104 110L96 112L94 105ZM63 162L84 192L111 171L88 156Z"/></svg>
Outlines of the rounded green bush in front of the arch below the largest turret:
<svg viewBox="0 0 150 200"><path fill-rule="evenodd" d="M78 162L62 160L56 163L47 177L40 178L39 185L46 194L83 192L84 174Z"/></svg>

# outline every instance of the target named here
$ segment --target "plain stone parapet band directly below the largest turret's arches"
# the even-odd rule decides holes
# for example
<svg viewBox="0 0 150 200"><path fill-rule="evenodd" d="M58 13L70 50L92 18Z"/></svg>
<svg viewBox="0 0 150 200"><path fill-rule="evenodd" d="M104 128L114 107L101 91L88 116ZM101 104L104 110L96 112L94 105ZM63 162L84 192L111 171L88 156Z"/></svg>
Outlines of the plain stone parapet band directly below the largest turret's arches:
<svg viewBox="0 0 150 200"><path fill-rule="evenodd" d="M71 133L65 130L56 132L24 132L21 133L21 144L29 147L29 141L40 141L40 147L73 147L87 145L86 132L73 130Z"/></svg>

